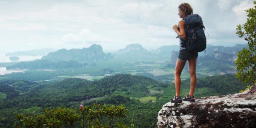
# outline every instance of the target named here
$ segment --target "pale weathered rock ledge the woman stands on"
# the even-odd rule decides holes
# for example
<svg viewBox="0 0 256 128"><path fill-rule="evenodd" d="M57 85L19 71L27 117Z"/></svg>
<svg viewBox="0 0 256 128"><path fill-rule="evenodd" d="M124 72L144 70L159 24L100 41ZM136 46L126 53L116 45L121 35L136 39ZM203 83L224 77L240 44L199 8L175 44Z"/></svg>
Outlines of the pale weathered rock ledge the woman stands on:
<svg viewBox="0 0 256 128"><path fill-rule="evenodd" d="M256 85L234 95L163 105L158 128L255 128Z"/></svg>

